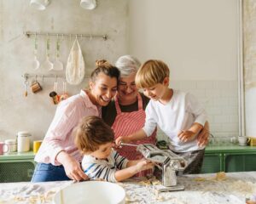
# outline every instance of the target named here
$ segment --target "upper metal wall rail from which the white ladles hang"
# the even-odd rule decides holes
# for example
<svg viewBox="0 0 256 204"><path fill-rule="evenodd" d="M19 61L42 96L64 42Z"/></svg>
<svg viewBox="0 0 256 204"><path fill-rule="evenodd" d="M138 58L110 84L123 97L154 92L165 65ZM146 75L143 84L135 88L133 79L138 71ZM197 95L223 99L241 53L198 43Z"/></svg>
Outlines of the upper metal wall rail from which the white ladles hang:
<svg viewBox="0 0 256 204"><path fill-rule="evenodd" d="M95 35L95 34L82 34L82 33L73 33L73 34L67 34L67 33L52 33L52 32L32 32L32 31L25 31L24 34L26 37L31 36L56 36L56 37L86 37L90 40L93 38L102 38L103 40L107 40L107 35Z"/></svg>

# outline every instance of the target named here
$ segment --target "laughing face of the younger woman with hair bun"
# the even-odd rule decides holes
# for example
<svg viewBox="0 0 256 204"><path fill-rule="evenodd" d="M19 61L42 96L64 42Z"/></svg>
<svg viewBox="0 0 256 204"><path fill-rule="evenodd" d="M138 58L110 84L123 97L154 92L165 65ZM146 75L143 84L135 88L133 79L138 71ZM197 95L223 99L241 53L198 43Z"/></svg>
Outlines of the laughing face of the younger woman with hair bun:
<svg viewBox="0 0 256 204"><path fill-rule="evenodd" d="M91 101L95 105L106 106L117 93L117 79L99 73L94 82L90 82Z"/></svg>

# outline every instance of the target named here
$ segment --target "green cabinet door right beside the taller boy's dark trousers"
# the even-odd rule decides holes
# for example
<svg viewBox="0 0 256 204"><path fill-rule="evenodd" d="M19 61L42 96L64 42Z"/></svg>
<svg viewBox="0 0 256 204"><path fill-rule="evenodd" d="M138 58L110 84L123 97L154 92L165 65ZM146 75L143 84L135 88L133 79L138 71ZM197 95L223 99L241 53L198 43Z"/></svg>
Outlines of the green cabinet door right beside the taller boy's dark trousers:
<svg viewBox="0 0 256 204"><path fill-rule="evenodd" d="M205 154L201 173L218 173L223 171L222 154Z"/></svg>

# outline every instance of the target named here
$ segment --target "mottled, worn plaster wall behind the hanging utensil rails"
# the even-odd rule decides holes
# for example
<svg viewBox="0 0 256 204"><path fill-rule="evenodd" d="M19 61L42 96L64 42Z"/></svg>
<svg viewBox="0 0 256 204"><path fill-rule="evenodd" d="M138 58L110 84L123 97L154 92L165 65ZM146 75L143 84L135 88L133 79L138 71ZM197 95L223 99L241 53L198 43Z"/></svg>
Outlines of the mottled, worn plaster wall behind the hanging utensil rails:
<svg viewBox="0 0 256 204"><path fill-rule="evenodd" d="M23 96L22 74L52 74L42 69L32 70L33 39L23 35L24 31L44 31L63 33L107 34L109 39L79 39L84 54L86 74L95 67L96 59L111 62L120 53L127 52L126 0L98 0L95 10L84 10L79 0L52 0L44 11L29 6L29 0L0 0L0 141L14 139L15 133L27 130L32 139L43 139L54 114L55 105L50 103L49 92L53 90L55 79L39 77L43 91L29 92ZM73 44L69 38L61 42L61 61L66 65L67 55ZM55 55L55 37L50 38L50 58ZM45 37L38 39L38 57L45 59ZM65 71L57 74L64 74ZM62 92L62 81L59 92ZM87 86L87 79L79 86L67 86L69 94L78 94Z"/></svg>

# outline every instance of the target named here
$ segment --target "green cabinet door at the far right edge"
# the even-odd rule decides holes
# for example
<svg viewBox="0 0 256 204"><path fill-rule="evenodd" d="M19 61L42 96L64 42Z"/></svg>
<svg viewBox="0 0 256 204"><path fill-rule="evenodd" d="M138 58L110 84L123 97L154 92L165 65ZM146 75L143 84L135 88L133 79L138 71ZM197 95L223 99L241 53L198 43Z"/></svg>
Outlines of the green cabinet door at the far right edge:
<svg viewBox="0 0 256 204"><path fill-rule="evenodd" d="M256 153L225 153L225 172L256 171Z"/></svg>

